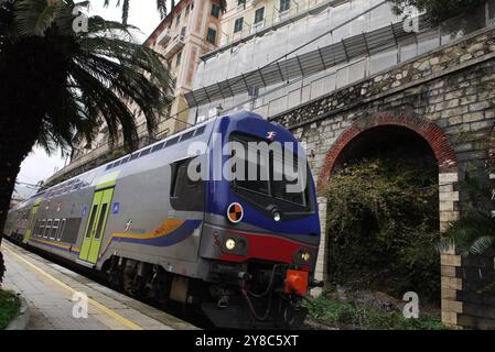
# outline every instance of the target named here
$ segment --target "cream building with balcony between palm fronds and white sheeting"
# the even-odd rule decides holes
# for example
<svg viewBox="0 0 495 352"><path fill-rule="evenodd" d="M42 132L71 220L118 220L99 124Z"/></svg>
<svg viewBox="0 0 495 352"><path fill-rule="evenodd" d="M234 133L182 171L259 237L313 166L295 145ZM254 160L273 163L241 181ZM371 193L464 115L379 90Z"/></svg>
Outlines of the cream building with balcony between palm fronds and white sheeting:
<svg viewBox="0 0 495 352"><path fill-rule="evenodd" d="M159 121L157 134L148 135L144 116L137 116L140 146L183 130L187 123L189 107L184 95L192 90L194 73L201 55L215 50L219 43L222 11L218 0L182 0L161 21L143 45L162 54L175 79L174 99ZM138 111L137 106L131 110ZM122 139L110 148L108 128L103 125L92 145L83 141L76 145L71 163L47 179L57 182L87 170L122 154Z"/></svg>

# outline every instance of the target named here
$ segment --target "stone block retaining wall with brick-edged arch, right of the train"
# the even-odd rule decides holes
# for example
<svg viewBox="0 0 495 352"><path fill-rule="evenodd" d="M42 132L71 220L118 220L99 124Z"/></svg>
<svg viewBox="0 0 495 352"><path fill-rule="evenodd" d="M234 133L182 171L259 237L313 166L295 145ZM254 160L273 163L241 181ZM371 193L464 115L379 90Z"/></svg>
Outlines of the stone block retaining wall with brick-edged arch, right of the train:
<svg viewBox="0 0 495 352"><path fill-rule="evenodd" d="M494 81L495 30L487 29L271 119L306 143L320 186L331 177L346 145L364 131L400 125L417 132L439 163L439 227L444 230L460 217L466 199L459 189L465 170L495 164ZM323 218L325 200L319 201ZM323 237L316 265L320 279L326 273L326 245ZM478 276L462 274L466 267L473 273L480 268L483 277L492 277L494 258L477 267L451 251L441 255L441 263L443 321L495 328L495 294L477 293Z"/></svg>

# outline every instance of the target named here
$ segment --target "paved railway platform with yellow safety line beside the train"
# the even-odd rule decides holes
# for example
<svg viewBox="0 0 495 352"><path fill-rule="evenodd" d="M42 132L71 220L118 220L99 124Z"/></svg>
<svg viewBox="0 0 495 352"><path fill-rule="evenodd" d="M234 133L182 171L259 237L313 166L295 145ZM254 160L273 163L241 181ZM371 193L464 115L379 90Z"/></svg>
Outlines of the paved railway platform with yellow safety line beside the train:
<svg viewBox="0 0 495 352"><path fill-rule="evenodd" d="M28 330L196 329L6 240L1 246L7 266L2 288L28 300Z"/></svg>

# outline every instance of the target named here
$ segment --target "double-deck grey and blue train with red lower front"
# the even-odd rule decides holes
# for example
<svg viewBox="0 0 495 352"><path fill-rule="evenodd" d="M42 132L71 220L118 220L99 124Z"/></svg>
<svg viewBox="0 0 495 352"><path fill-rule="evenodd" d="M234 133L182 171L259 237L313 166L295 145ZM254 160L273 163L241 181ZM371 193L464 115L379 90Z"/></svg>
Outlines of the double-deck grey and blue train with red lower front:
<svg viewBox="0 0 495 352"><path fill-rule="evenodd" d="M233 142L278 143L303 187L287 191L298 182L276 177L286 165L272 151L233 163ZM311 170L295 164L305 151L282 125L219 116L40 190L10 209L3 235L130 296L195 306L217 328L299 328L321 286L320 219ZM224 177L243 166L258 177Z"/></svg>

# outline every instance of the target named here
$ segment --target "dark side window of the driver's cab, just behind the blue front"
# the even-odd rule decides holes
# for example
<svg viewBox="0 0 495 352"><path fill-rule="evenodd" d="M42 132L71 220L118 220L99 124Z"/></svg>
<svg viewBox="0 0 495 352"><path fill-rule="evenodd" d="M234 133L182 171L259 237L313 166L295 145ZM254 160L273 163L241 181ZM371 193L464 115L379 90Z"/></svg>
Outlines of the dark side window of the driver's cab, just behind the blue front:
<svg viewBox="0 0 495 352"><path fill-rule="evenodd" d="M187 176L192 160L172 164L171 205L175 210L202 211L204 209L204 183L194 182ZM200 201L198 201L200 200Z"/></svg>

